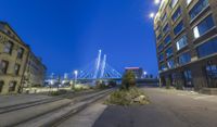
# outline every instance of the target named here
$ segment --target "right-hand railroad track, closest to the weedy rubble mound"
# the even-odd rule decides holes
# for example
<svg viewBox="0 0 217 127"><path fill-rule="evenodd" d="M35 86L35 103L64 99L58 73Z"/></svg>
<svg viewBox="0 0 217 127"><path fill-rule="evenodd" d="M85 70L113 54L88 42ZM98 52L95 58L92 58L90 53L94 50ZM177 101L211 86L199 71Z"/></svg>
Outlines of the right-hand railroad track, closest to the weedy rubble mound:
<svg viewBox="0 0 217 127"><path fill-rule="evenodd" d="M58 127L61 123L65 122L76 113L82 111L91 103L106 97L114 89L103 90L89 96L82 96L76 98L67 106L61 107L59 110L49 112L41 116L21 122L15 127Z"/></svg>

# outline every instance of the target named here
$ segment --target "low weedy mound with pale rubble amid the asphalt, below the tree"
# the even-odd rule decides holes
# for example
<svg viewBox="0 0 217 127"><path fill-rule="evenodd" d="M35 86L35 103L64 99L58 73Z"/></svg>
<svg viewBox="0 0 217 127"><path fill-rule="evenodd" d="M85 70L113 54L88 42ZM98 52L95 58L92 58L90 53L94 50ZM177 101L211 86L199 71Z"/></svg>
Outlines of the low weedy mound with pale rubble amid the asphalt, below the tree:
<svg viewBox="0 0 217 127"><path fill-rule="evenodd" d="M136 87L129 88L129 90L114 91L105 100L107 105L144 105L149 103L150 101L145 93Z"/></svg>

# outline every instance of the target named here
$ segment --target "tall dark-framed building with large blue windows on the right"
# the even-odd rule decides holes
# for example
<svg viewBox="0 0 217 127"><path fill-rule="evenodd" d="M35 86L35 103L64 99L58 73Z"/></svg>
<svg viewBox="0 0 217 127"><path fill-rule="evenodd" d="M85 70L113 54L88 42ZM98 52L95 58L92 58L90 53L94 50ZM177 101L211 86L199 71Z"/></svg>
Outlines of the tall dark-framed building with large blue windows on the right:
<svg viewBox="0 0 217 127"><path fill-rule="evenodd" d="M217 0L162 0L154 30L162 85L217 88Z"/></svg>

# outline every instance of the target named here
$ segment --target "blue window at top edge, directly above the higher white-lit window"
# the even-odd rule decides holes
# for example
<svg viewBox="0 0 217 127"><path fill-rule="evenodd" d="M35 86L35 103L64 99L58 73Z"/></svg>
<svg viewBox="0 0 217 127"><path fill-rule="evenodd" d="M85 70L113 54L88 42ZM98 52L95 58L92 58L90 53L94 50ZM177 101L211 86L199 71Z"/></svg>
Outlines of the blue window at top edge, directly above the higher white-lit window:
<svg viewBox="0 0 217 127"><path fill-rule="evenodd" d="M201 11L203 11L208 5L208 0L199 0L199 2L191 9L189 15L193 20Z"/></svg>

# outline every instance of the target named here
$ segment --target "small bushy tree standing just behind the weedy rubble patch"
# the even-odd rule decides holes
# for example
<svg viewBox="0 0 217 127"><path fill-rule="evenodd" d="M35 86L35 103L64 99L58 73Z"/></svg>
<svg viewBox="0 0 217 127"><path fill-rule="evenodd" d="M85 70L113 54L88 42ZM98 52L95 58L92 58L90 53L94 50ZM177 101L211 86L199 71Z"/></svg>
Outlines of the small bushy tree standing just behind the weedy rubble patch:
<svg viewBox="0 0 217 127"><path fill-rule="evenodd" d="M123 76L122 89L129 89L136 86L136 76L131 71L127 71Z"/></svg>

